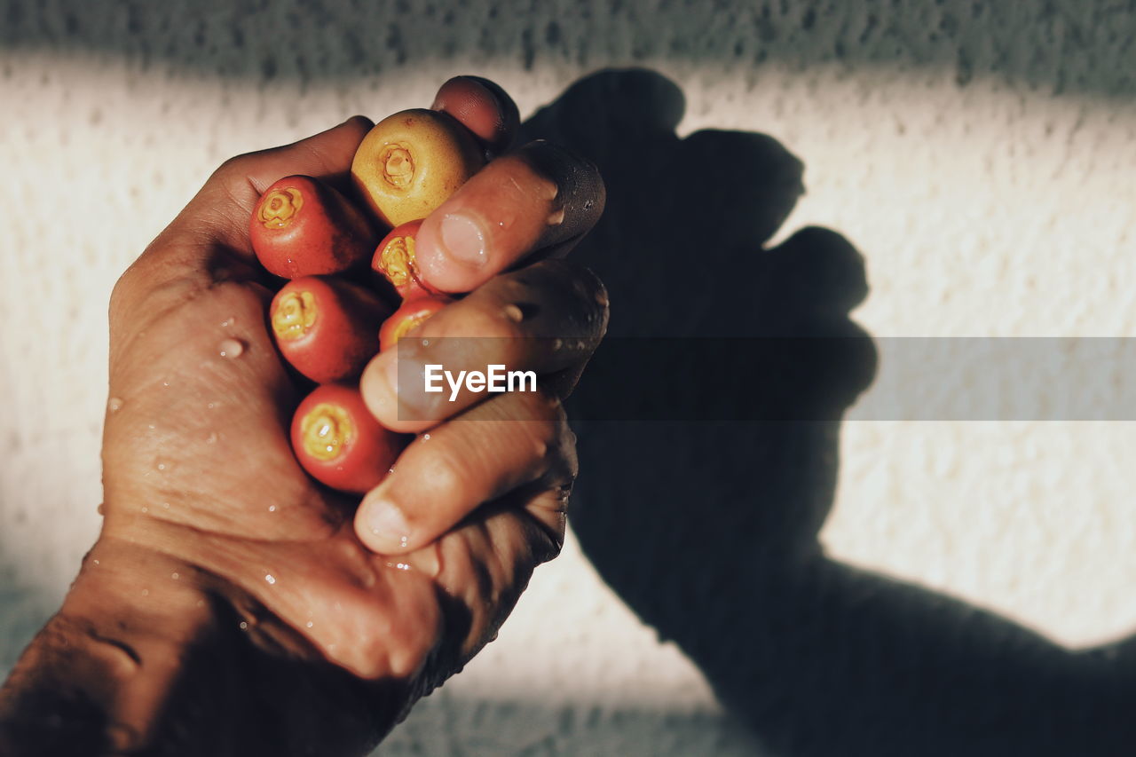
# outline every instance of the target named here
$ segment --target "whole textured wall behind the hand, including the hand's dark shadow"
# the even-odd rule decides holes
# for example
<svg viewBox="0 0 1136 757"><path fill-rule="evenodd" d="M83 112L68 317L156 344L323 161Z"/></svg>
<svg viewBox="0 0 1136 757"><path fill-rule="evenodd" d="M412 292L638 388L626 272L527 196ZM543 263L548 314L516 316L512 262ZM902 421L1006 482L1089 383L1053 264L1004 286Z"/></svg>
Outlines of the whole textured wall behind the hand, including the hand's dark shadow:
<svg viewBox="0 0 1136 757"><path fill-rule="evenodd" d="M117 275L224 158L454 73L609 175L616 333L1136 331L1131 3L742 6L2 0L0 668L97 533ZM1134 433L586 427L579 539L381 751L1111 754Z"/></svg>

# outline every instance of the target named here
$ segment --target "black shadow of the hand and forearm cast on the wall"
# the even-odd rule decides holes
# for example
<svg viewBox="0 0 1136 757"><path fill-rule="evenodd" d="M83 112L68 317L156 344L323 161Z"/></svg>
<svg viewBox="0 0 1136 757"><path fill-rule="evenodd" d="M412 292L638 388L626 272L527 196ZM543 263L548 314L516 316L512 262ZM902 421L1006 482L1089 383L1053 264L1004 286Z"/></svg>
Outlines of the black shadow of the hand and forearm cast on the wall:
<svg viewBox="0 0 1136 757"><path fill-rule="evenodd" d="M840 417L875 371L871 342L849 318L867 296L863 261L821 228L763 249L802 191L802 165L760 134L680 140L683 108L662 76L604 72L525 125L527 138L591 157L608 182L604 217L574 252L609 286L608 344L837 336L857 348L811 350L807 365L786 366L762 352L765 340L740 342L754 351L745 381L727 384L749 394L737 398L740 417L767 402L787 421L578 424L573 525L585 554L772 755L1128 754L1130 650L1069 652L824 556L817 534L833 502ZM586 408L628 385L721 391L682 367L620 375L602 369L602 349L596 361L599 377L578 390ZM818 414L818 396L837 406Z"/></svg>

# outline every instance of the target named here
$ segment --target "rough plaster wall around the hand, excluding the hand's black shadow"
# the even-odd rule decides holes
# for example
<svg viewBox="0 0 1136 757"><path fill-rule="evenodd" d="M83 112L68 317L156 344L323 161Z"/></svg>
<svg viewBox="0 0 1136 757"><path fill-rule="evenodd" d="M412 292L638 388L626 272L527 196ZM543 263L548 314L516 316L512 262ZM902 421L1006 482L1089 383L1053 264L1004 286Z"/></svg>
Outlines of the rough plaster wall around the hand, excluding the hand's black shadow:
<svg viewBox="0 0 1136 757"><path fill-rule="evenodd" d="M1133 335L1134 36L1136 9L1103 0L0 2L0 668L98 530L110 288L224 158L426 103L453 73L496 78L531 114L590 72L642 66L685 95L679 134L759 132L803 164L807 193L771 244L805 225L851 243L868 282L852 318L867 333ZM716 167L675 170L696 183ZM660 305L642 307L625 323ZM1130 424L851 421L836 433L820 532L834 564L1072 649L1136 627ZM695 458L667 466L701 475ZM582 507L602 499L611 473L596 475ZM707 501L737 492L720 476L700 485ZM758 739L724 715L620 593L570 540L500 639L381 751L742 755L760 741L822 754L822 724L791 707ZM892 631L920 648L918 624ZM991 638L994 659L1010 642ZM838 646L802 654L883 668L894 652ZM934 682L909 693L938 696ZM944 708L929 722L951 731ZM1028 726L1005 727L984 747L1029 742L1014 731ZM870 743L860 735L847 743Z"/></svg>

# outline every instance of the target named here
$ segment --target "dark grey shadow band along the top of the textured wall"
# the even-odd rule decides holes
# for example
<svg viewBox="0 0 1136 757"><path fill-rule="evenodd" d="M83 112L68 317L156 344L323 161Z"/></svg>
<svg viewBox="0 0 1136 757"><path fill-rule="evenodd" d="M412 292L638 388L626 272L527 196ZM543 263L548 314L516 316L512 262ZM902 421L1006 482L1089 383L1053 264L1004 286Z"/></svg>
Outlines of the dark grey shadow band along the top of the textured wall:
<svg viewBox="0 0 1136 757"><path fill-rule="evenodd" d="M600 9L600 10L598 10ZM2 0L0 47L110 55L133 69L312 84L467 69L733 63L950 70L1130 99L1136 13L1110 0Z"/></svg>

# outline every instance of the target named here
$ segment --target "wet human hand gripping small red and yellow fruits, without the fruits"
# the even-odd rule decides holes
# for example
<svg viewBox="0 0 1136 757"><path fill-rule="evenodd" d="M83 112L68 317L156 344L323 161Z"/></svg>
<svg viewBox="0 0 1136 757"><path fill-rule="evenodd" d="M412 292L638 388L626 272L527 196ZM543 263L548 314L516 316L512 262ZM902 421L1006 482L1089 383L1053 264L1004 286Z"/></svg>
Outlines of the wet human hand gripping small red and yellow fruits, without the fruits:
<svg viewBox="0 0 1136 757"><path fill-rule="evenodd" d="M518 122L511 100L477 80L451 80L435 107L491 152ZM592 166L537 143L471 178L427 219L418 246L427 283L471 293L420 335L544 338L490 340L511 347L454 359L535 369L551 389L463 397L431 421L400 422L386 382L394 356L377 357L361 382L368 405L423 435L356 516L357 502L312 482L289 446L298 386L266 328L272 291L248 219L285 175L345 188L370 125L356 117L227 161L118 282L106 519L60 616L151 668L170 663L149 656L195 643L194 629L239 632L266 659L329 665L349 688L382 684L381 733L492 638L533 568L557 554L575 475L559 399L602 336L607 298L563 263L517 267L534 251L563 252L595 222L603 186ZM443 227L454 218L473 252L465 258ZM553 336L575 347L550 350ZM278 707L286 696L277 692ZM124 739L145 742L150 709L115 715Z"/></svg>

